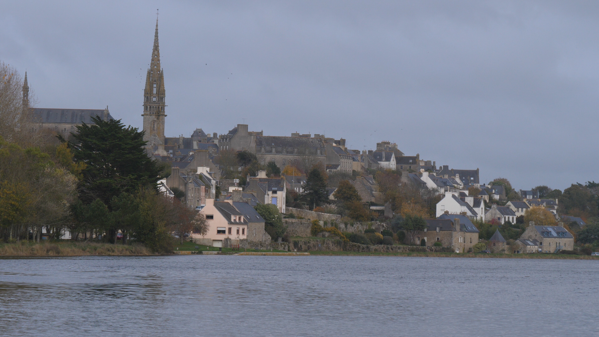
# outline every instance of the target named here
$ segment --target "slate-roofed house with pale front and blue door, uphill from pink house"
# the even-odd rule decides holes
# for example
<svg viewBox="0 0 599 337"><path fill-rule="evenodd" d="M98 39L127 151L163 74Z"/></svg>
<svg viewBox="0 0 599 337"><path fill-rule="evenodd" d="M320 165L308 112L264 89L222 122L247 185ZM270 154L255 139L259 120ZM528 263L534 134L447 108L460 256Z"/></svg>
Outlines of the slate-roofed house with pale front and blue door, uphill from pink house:
<svg viewBox="0 0 599 337"><path fill-rule="evenodd" d="M279 209L279 213L285 213L287 193L285 177L269 178L266 176L266 171L258 171L257 177L247 177L243 191L256 195L263 204L274 204Z"/></svg>

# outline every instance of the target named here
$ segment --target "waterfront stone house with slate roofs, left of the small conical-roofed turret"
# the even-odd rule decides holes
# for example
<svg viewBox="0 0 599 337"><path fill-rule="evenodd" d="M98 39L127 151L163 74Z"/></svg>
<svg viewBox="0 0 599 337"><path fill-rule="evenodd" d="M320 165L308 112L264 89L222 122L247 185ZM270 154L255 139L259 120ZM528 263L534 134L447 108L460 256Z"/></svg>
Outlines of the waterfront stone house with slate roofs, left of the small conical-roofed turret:
<svg viewBox="0 0 599 337"><path fill-rule="evenodd" d="M479 242L479 230L467 216L446 214L437 219L426 219L426 230L416 235L418 242L421 239L425 240L426 246L441 242L444 247L454 248L455 252L467 252Z"/></svg>

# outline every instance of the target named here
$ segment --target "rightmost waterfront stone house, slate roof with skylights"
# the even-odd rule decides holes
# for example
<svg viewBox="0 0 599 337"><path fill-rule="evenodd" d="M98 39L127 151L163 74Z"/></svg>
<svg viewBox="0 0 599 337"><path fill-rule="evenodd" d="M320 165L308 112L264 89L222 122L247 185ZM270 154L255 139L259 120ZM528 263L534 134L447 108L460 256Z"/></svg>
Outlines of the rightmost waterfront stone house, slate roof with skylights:
<svg viewBox="0 0 599 337"><path fill-rule="evenodd" d="M539 241L539 249L542 252L574 249L574 237L562 226L537 226L531 221L520 238Z"/></svg>

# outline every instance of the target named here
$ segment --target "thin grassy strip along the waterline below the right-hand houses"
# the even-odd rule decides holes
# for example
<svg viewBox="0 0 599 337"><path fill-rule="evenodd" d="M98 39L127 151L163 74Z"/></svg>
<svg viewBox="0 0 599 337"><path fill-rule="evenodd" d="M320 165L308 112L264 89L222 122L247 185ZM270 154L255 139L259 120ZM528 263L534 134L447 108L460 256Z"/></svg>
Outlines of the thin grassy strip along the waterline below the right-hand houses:
<svg viewBox="0 0 599 337"><path fill-rule="evenodd" d="M452 252L351 252L351 251L310 251L310 255L325 256L406 256L406 257L477 257L477 258L551 258L558 260L599 260L589 255L567 255L552 253L537 254L472 254Z"/></svg>

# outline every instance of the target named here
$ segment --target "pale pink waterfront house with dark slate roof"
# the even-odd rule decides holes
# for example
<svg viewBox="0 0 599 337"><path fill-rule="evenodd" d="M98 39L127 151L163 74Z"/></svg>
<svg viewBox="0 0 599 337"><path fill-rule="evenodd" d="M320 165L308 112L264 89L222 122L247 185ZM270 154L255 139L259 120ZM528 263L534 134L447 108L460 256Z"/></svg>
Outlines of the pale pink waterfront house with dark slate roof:
<svg viewBox="0 0 599 337"><path fill-rule="evenodd" d="M242 214L233 206L232 200L214 201L206 199L206 205L202 208L210 228L208 233L201 235L192 233L190 238L200 245L222 247L224 239L231 239L233 245L240 240L247 239L247 215Z"/></svg>

